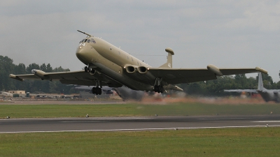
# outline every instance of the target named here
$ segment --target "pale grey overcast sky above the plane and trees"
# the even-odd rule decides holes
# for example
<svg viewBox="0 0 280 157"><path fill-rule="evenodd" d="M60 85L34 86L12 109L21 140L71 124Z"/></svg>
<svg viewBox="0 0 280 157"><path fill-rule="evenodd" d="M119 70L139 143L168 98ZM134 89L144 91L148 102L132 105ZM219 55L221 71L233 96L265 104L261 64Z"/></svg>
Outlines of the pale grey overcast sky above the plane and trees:
<svg viewBox="0 0 280 157"><path fill-rule="evenodd" d="M150 66L172 47L173 68L259 66L279 81L280 1L4 0L0 20L0 55L15 64L81 70L78 29Z"/></svg>

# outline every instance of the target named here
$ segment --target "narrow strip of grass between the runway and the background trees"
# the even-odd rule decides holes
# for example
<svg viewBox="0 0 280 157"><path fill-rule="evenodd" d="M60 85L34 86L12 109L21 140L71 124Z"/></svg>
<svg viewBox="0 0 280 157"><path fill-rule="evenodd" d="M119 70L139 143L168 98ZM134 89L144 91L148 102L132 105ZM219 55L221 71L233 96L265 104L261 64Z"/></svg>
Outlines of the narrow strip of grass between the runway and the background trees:
<svg viewBox="0 0 280 157"><path fill-rule="evenodd" d="M0 105L0 118L31 117L121 117L121 116L193 116L280 114L280 105L265 104L108 104L108 105Z"/></svg>

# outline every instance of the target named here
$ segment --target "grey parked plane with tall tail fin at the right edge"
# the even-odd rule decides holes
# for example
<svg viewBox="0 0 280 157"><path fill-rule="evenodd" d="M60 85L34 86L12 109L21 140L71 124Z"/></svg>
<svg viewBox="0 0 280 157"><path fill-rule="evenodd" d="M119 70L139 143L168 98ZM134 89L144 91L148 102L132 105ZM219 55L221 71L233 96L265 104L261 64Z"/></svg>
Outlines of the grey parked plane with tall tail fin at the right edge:
<svg viewBox="0 0 280 157"><path fill-rule="evenodd" d="M280 103L280 95L279 89L265 89L263 87L263 82L262 82L262 73L258 73L258 89L229 89L229 90L224 90L225 92L248 92L251 94L260 94L262 96L263 100L266 102L268 101L274 101L275 103Z"/></svg>

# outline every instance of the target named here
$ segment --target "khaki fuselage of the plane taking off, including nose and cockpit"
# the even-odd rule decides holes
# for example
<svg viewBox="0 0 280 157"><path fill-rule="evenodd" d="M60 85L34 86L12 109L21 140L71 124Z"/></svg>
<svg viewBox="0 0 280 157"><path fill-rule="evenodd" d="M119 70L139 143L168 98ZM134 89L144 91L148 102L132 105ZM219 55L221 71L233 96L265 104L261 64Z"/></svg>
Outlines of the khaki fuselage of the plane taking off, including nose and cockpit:
<svg viewBox="0 0 280 157"><path fill-rule="evenodd" d="M133 73L127 73L126 67L135 66L135 69L129 69L134 72L139 66L151 66L101 38L90 36L82 40L77 47L76 56L88 68L93 69L94 73L102 73L130 89L153 91L153 84L128 77L127 74Z"/></svg>

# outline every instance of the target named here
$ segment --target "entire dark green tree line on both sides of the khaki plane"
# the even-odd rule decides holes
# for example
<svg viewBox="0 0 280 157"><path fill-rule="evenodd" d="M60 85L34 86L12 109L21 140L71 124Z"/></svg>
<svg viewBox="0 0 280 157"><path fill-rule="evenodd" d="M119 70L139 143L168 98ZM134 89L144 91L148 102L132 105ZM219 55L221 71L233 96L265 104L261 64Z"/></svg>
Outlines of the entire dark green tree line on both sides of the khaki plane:
<svg viewBox="0 0 280 157"><path fill-rule="evenodd" d="M72 94L76 93L69 84L62 84L59 81L50 82L49 80L25 80L20 82L11 79L9 75L13 74L29 74L32 69L43 70L46 73L69 71L69 68L52 68L50 63L43 63L39 66L37 63L31 63L25 66L24 63L15 65L13 59L0 55L0 91L8 90L25 90L27 92L44 92L54 94ZM266 89L280 89L280 81L273 82L272 77L268 74L262 74L262 80ZM217 80L209 80L206 82L194 82L190 84L179 84L186 94L203 95L203 96L225 96L227 93L224 89L258 89L258 76L246 77L245 74L230 75L218 77Z"/></svg>

